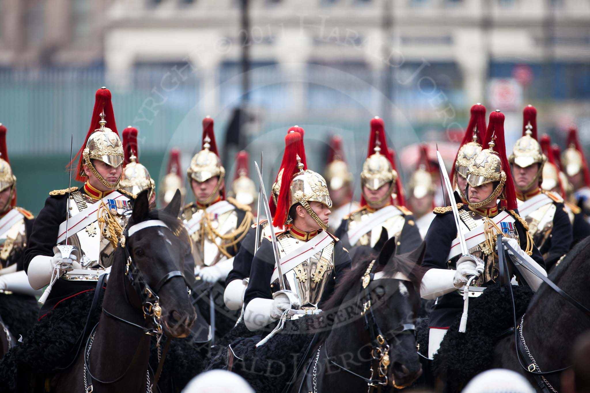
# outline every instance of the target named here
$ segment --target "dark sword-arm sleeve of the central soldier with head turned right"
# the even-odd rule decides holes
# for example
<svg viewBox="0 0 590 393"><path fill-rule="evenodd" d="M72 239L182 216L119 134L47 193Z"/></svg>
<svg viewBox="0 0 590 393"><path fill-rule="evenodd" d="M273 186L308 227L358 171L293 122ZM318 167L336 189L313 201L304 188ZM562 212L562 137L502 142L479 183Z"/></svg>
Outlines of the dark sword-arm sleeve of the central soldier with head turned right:
<svg viewBox="0 0 590 393"><path fill-rule="evenodd" d="M244 306L247 306L248 302L254 298L273 298L270 278L273 276L274 266L273 243L265 237L252 260L250 280L244 294Z"/></svg>

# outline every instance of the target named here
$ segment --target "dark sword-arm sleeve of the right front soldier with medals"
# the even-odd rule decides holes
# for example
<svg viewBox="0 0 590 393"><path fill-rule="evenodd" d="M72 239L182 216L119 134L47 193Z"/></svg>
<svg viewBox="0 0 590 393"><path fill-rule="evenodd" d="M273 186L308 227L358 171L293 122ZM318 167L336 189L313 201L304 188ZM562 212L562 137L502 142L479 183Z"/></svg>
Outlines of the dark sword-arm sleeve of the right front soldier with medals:
<svg viewBox="0 0 590 393"><path fill-rule="evenodd" d="M455 226L453 213L437 214L424 239L426 252L422 267L447 269L447 256L455 237L457 237L457 226Z"/></svg>

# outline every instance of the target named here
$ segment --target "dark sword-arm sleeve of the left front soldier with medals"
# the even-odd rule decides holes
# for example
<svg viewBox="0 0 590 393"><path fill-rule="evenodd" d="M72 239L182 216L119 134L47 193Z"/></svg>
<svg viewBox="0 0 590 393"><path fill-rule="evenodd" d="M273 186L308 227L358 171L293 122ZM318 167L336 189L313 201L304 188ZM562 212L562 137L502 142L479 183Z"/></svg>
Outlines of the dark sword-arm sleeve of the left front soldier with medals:
<svg viewBox="0 0 590 393"><path fill-rule="evenodd" d="M29 237L29 246L23 258L23 267L27 271L29 263L37 255L53 256L53 247L57 244L60 224L65 221L67 196L50 196L45 206L35 219Z"/></svg>

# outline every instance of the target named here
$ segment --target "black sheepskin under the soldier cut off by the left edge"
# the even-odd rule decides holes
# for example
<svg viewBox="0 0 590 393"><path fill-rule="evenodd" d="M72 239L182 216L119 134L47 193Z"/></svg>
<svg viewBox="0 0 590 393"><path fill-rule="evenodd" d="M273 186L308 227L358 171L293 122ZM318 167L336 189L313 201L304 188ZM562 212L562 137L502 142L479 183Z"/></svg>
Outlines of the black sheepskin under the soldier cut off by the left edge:
<svg viewBox="0 0 590 393"><path fill-rule="evenodd" d="M35 296L0 293L0 318L15 339L25 336L37 322L39 303Z"/></svg>

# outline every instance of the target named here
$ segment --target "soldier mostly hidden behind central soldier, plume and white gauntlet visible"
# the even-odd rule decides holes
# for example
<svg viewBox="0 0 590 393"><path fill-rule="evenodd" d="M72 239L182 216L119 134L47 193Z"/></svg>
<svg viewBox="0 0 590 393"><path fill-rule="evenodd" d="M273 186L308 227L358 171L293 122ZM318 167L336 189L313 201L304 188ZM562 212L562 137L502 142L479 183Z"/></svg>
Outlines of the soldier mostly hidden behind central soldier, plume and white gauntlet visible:
<svg viewBox="0 0 590 393"><path fill-rule="evenodd" d="M281 177L283 176L284 165L287 157L298 155L305 157L305 148L303 146L304 130L301 127L291 127L287 131L285 137L285 150L283 153L283 160L279 167L277 178L271 187L271 200L268 201L268 207L271 214L276 213L278 198L278 191L281 188ZM303 169L307 169L305 161L301 160ZM260 201L262 203L262 201ZM260 215L259 215L260 216ZM250 277L250 268L252 267L252 260L258 247L261 245L264 237L269 237L271 226L268 220L258 220L254 223L248 234L242 240L240 250L234 257L234 266L225 280L224 302L230 310L237 310L244 305L244 293L248 286L248 278ZM274 228L274 232L280 232L280 229ZM257 239L258 236L258 239Z"/></svg>

